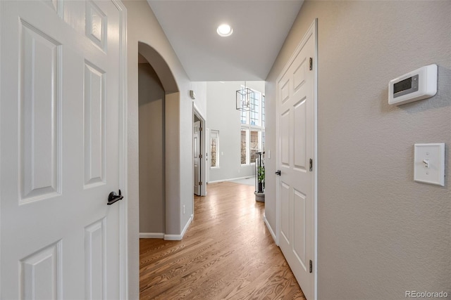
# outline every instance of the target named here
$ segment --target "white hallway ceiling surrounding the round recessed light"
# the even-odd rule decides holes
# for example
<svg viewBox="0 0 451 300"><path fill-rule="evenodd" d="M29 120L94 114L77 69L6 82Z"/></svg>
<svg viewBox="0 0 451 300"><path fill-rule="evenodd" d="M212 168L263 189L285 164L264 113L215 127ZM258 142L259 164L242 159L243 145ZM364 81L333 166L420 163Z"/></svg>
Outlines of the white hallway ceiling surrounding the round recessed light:
<svg viewBox="0 0 451 300"><path fill-rule="evenodd" d="M147 0L192 81L265 80L303 0ZM219 37L222 23L233 27Z"/></svg>

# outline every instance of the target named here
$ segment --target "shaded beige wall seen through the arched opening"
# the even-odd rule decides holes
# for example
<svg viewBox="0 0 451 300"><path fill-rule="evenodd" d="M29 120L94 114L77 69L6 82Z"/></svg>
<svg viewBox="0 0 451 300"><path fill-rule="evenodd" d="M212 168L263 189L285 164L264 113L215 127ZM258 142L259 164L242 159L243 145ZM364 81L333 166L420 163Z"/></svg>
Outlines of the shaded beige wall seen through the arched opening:
<svg viewBox="0 0 451 300"><path fill-rule="evenodd" d="M164 90L149 63L138 66L140 233L165 233Z"/></svg>

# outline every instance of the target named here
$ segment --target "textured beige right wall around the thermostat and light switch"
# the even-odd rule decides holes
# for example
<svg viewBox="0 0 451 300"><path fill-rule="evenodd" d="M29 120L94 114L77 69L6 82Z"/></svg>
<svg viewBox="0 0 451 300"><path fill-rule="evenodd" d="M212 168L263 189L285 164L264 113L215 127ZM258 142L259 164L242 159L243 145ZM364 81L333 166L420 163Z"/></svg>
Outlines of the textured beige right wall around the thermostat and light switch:
<svg viewBox="0 0 451 300"><path fill-rule="evenodd" d="M450 150L451 1L305 1L266 83L273 153L276 78L314 18L319 299L450 293L450 176L445 187L414 182L413 145ZM431 63L436 96L388 105L390 79ZM446 163L449 174L450 155ZM275 230L275 159L266 166L266 218Z"/></svg>

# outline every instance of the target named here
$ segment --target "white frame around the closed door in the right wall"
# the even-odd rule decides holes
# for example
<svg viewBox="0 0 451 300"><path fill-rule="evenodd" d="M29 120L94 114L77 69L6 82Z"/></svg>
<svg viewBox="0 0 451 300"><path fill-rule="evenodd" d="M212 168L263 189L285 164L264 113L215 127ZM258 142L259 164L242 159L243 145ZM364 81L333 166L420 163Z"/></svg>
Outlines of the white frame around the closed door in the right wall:
<svg viewBox="0 0 451 300"><path fill-rule="evenodd" d="M279 112L279 105L278 102L280 100L280 93L279 93L279 81L282 79L283 74L288 71L288 68L295 60L296 56L299 54L299 52L302 50L304 45L307 43L309 37L313 35L314 37L314 57L313 57L313 72L314 72L314 79L313 79L313 106L314 106L314 152L313 152L313 185L314 185L314 195L313 195L313 206L314 206L314 261L313 261L313 273L314 273L314 299L317 299L318 294L318 19L315 18L314 21L311 23L309 29L304 34L304 37L302 37L301 41L297 45L295 51L293 51L292 56L288 60L288 62L285 64L285 67L283 67L283 70L280 72L279 76L277 77L276 81L276 115L278 115ZM276 169L280 169L280 145L279 145L279 119L276 118ZM278 176L276 176L278 177ZM278 185L278 181L280 179L276 178L276 244L279 245L279 239L280 239L280 223L281 223L281 207L280 207L280 188Z"/></svg>

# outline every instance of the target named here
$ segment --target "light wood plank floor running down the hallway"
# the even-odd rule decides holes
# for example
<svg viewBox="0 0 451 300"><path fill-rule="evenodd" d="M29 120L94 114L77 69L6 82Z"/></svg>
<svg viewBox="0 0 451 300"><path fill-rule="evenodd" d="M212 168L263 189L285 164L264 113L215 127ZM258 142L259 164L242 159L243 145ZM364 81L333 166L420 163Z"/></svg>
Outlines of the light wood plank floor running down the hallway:
<svg viewBox="0 0 451 300"><path fill-rule="evenodd" d="M141 299L305 299L254 187L212 183L181 241L140 240Z"/></svg>

